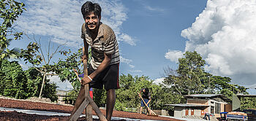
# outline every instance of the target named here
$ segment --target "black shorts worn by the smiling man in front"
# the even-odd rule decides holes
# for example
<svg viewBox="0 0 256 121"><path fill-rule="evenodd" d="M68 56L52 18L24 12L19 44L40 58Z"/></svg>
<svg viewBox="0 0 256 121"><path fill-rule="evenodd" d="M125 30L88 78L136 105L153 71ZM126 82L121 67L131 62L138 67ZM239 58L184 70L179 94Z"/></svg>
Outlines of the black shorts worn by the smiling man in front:
<svg viewBox="0 0 256 121"><path fill-rule="evenodd" d="M88 75L95 70L89 66ZM97 74L94 79L89 83L90 87L102 89L103 85L105 90L119 89L119 63L108 66L102 72Z"/></svg>

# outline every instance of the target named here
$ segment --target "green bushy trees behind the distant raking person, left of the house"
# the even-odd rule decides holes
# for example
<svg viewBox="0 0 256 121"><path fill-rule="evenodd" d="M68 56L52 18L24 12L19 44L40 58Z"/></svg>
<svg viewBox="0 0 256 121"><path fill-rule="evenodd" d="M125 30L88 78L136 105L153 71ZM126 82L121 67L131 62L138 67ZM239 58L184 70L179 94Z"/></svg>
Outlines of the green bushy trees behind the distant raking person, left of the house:
<svg viewBox="0 0 256 121"><path fill-rule="evenodd" d="M156 85L153 80L148 77L132 77L131 74L122 74L119 77L120 89L116 90L116 105L115 109L129 111L140 107L140 98L138 93L143 87L148 87L151 92L151 108L165 109L164 104L178 104L184 101L181 95L172 93L170 88L163 85Z"/></svg>

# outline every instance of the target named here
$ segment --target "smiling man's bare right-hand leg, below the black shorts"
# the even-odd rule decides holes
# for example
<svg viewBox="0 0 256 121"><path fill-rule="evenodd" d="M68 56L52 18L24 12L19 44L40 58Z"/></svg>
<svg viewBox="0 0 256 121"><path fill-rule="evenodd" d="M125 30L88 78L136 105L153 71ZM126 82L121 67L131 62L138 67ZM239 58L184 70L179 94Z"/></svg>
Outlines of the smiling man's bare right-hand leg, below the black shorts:
<svg viewBox="0 0 256 121"><path fill-rule="evenodd" d="M107 91L107 109L106 109L106 117L107 120L111 120L113 109L116 102L116 93L115 89L110 89Z"/></svg>

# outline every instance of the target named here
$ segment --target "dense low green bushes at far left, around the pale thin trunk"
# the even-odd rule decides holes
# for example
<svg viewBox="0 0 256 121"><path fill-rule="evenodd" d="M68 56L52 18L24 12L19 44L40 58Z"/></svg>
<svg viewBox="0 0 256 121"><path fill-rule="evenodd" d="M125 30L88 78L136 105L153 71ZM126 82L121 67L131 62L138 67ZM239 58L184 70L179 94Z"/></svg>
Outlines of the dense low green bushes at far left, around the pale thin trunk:
<svg viewBox="0 0 256 121"><path fill-rule="evenodd" d="M39 95L42 82L39 71L33 68L23 71L18 61L2 60L0 67L0 95L22 99ZM42 97L56 101L56 85L47 80L45 89Z"/></svg>

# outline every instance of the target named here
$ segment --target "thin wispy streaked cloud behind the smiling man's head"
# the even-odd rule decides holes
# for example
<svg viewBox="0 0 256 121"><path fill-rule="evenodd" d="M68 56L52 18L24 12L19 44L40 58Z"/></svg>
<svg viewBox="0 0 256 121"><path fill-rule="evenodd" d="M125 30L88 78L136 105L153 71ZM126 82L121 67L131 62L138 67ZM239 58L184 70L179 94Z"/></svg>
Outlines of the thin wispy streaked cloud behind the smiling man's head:
<svg viewBox="0 0 256 121"><path fill-rule="evenodd" d="M121 42L135 45L135 39L124 34L122 23L127 20L127 9L120 1L95 1L102 7L102 22L108 24L116 33ZM83 17L80 7L84 1L78 0L27 0L27 11L18 19L18 26L28 32L39 36L50 36L53 42L72 47L80 47L80 28Z"/></svg>

